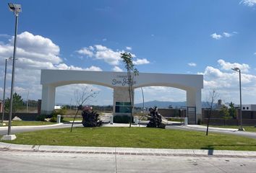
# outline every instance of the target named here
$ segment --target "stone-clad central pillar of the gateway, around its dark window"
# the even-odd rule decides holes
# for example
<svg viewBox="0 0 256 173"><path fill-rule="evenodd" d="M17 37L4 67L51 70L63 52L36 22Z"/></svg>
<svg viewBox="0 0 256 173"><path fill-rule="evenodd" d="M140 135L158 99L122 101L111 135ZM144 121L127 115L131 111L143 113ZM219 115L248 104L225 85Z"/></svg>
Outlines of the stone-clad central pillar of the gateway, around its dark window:
<svg viewBox="0 0 256 173"><path fill-rule="evenodd" d="M134 90L133 90L133 92L134 92ZM114 87L113 114L114 115L129 115L129 113L116 112L116 102L129 102L128 87ZM132 102L134 102L134 97L132 99Z"/></svg>

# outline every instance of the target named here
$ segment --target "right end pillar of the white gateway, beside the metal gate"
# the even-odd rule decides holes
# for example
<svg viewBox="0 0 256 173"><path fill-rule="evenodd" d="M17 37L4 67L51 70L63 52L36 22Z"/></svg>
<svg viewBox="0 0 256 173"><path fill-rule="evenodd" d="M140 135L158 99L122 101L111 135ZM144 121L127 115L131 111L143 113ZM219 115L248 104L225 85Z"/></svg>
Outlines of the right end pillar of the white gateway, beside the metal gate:
<svg viewBox="0 0 256 173"><path fill-rule="evenodd" d="M187 106L196 107L197 120L202 120L201 89L187 90ZM196 120L196 122L197 122Z"/></svg>

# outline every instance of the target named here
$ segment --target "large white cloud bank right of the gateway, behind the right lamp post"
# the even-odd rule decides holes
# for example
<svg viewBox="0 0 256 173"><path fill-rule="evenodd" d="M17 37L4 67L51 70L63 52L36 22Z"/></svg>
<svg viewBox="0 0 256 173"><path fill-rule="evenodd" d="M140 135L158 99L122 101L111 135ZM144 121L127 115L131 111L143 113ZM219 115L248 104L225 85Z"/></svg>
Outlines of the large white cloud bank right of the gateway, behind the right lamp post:
<svg viewBox="0 0 256 173"><path fill-rule="evenodd" d="M223 60L219 60L218 63L221 68L214 68L213 66L207 66L204 75L204 89L202 90L202 100L205 100L205 95L212 89L216 89L221 99L225 99L226 102L239 102L239 73L236 71L230 71L231 64L244 66L239 63L229 63ZM248 69L245 67L244 70ZM226 72L222 71L225 70ZM229 71L228 71L229 70ZM241 75L242 78L242 99L244 104L255 104L253 98L256 97L256 76L252 74Z"/></svg>

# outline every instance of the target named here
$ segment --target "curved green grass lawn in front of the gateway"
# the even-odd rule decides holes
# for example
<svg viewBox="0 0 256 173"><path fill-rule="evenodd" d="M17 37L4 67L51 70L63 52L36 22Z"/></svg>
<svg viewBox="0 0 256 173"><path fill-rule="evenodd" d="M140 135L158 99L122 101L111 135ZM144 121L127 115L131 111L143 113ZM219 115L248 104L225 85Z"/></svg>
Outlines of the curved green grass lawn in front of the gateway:
<svg viewBox="0 0 256 173"><path fill-rule="evenodd" d="M256 139L158 128L69 128L17 133L14 141L30 145L189 148L256 151Z"/></svg>

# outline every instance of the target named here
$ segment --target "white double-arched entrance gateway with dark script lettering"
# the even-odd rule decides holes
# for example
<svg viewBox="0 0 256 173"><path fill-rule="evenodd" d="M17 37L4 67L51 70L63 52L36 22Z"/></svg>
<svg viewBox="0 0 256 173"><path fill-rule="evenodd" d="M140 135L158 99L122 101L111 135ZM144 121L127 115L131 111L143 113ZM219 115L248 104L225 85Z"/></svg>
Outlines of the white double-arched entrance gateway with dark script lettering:
<svg viewBox="0 0 256 173"><path fill-rule="evenodd" d="M42 89L41 114L54 110L55 90L69 84L97 84L114 89L113 114L129 114L129 90L127 73L109 71L41 70ZM187 92L187 107L194 107L194 122L202 119L201 89L203 76L195 74L151 74L140 73L134 78L132 89L145 86L169 86ZM133 98L134 99L134 98ZM128 112L127 112L128 111Z"/></svg>

